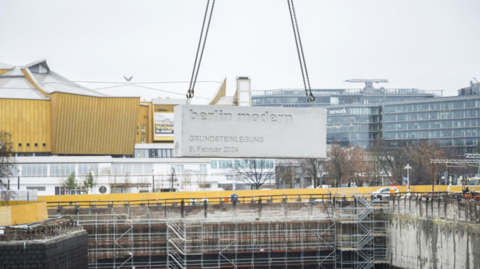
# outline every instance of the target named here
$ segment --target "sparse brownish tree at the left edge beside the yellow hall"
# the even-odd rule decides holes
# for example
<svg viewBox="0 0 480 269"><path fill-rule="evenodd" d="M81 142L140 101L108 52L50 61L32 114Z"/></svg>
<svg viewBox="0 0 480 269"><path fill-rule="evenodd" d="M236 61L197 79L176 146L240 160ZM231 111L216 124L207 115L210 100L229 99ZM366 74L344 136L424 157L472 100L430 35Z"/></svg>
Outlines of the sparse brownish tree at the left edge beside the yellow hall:
<svg viewBox="0 0 480 269"><path fill-rule="evenodd" d="M0 131L0 194L2 200L10 200L14 193L9 189L9 179L13 176L16 160L13 156L12 135Z"/></svg>

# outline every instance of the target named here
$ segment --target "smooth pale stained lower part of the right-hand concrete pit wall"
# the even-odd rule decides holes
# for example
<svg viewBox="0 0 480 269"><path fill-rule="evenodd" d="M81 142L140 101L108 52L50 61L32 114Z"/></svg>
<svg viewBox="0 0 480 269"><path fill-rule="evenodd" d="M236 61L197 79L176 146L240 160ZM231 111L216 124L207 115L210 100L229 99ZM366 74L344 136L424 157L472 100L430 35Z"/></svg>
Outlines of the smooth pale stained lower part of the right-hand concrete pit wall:
<svg viewBox="0 0 480 269"><path fill-rule="evenodd" d="M480 268L480 225L392 216L392 266Z"/></svg>

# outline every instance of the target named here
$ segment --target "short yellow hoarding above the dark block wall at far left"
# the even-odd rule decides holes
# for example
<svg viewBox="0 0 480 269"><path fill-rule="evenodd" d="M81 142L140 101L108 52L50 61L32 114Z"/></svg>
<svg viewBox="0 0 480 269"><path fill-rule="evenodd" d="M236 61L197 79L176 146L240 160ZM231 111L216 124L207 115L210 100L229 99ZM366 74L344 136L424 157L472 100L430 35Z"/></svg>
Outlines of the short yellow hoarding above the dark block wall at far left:
<svg viewBox="0 0 480 269"><path fill-rule="evenodd" d="M22 225L48 218L44 201L9 201L0 203L0 226Z"/></svg>

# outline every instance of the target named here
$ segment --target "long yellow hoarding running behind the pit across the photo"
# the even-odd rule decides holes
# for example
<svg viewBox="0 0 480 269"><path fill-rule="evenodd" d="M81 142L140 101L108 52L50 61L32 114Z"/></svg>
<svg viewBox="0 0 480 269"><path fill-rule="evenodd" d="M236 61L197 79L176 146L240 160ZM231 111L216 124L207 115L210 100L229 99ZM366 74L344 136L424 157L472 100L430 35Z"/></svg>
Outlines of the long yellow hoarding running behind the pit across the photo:
<svg viewBox="0 0 480 269"><path fill-rule="evenodd" d="M363 193L369 194L382 187L359 187L359 188L322 188L322 189L275 189L275 190L242 190L242 191L194 191L194 192L155 192L155 193L114 193L114 194L81 194L81 195L49 195L38 196L38 200L46 201L49 204L58 203L59 205L123 205L128 202L130 205L140 204L142 201L161 201L167 203L179 202L184 200L196 199L201 202L202 199L208 199L209 202L219 201L220 199L229 202L231 194L238 195L239 200L262 199L272 197L273 200L280 200L281 197L289 197L289 200L308 200L322 195L348 195ZM407 192L407 186L395 186L399 192ZM410 186L411 192L430 192L431 185ZM434 186L435 192L460 192L461 186Z"/></svg>

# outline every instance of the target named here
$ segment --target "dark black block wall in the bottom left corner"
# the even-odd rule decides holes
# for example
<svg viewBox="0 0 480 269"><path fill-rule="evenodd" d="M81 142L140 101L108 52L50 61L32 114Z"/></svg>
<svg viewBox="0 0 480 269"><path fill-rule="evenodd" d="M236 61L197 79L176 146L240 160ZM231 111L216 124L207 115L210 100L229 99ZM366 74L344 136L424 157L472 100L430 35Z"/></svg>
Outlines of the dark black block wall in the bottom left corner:
<svg viewBox="0 0 480 269"><path fill-rule="evenodd" d="M0 268L84 269L87 260L87 233L75 232L52 240L0 243Z"/></svg>

